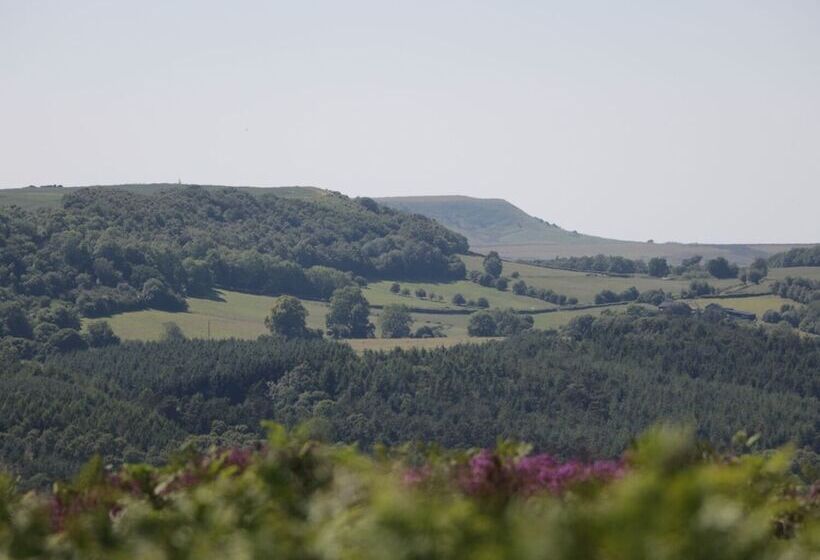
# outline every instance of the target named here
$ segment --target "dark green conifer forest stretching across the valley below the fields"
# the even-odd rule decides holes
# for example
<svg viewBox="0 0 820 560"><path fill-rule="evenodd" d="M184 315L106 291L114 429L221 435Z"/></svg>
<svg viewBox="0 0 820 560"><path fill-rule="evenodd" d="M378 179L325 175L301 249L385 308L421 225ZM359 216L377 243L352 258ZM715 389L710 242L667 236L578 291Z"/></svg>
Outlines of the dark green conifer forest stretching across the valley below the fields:
<svg viewBox="0 0 820 560"><path fill-rule="evenodd" d="M156 462L185 441L236 444L259 422L334 441L490 446L606 457L662 421L728 442L820 451L820 342L716 318L582 317L563 332L358 355L322 339L124 343L0 376L0 459L29 485L90 455Z"/></svg>

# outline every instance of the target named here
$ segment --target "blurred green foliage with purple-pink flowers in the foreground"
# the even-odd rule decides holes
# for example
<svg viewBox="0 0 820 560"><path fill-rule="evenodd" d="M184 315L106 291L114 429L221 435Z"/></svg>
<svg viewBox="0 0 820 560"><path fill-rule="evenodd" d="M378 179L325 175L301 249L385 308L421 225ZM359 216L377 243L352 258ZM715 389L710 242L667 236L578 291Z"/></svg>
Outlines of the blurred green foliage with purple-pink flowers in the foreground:
<svg viewBox="0 0 820 560"><path fill-rule="evenodd" d="M267 441L256 448L188 450L162 468L109 472L92 461L49 494L20 495L3 478L0 556L797 560L820 554L818 486L789 473L788 449L719 455L687 431L658 428L612 463L561 463L509 442L495 450L405 446L371 456L319 443L309 428L289 434L267 427ZM754 445L752 439L742 435L737 443Z"/></svg>

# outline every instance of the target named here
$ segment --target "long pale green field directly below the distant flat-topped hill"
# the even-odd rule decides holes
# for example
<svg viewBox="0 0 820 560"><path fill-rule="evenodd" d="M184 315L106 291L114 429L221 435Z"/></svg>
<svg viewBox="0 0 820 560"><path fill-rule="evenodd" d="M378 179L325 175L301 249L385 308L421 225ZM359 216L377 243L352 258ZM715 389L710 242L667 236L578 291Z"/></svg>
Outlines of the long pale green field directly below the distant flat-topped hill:
<svg viewBox="0 0 820 560"><path fill-rule="evenodd" d="M482 270L482 257L462 257L468 270ZM629 277L608 276L556 268L544 268L528 264L504 262L504 275L510 276L518 272L527 285L550 289L567 297L577 297L579 303L593 303L595 295L602 290L621 292L635 286L638 291L661 289L674 296L679 296L681 290L689 287L690 280L684 278L653 278L647 275ZM719 290L727 289L739 284L738 280L718 280L710 278L708 282Z"/></svg>

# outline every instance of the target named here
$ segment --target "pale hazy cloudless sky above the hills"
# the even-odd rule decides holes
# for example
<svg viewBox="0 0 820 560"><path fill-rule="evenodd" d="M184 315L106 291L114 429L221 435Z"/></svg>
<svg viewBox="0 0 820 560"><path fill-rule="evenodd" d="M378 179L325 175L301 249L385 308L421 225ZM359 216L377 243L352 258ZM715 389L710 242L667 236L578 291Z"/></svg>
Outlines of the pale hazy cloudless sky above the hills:
<svg viewBox="0 0 820 560"><path fill-rule="evenodd" d="M820 1L0 0L0 187L500 197L820 241Z"/></svg>

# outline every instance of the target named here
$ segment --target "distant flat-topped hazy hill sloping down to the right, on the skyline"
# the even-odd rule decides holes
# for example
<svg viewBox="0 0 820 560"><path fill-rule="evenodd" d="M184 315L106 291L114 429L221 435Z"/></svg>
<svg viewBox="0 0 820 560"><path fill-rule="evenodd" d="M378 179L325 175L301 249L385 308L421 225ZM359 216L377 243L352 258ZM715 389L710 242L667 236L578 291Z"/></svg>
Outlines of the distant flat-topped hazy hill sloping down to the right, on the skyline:
<svg viewBox="0 0 820 560"><path fill-rule="evenodd" d="M494 250L510 259L551 259L587 255L620 255L632 259L666 257L672 262L701 255L740 264L768 257L797 245L719 245L643 243L583 235L561 229L501 199L467 196L415 196L377 199L386 206L422 214L467 237L473 251Z"/></svg>

